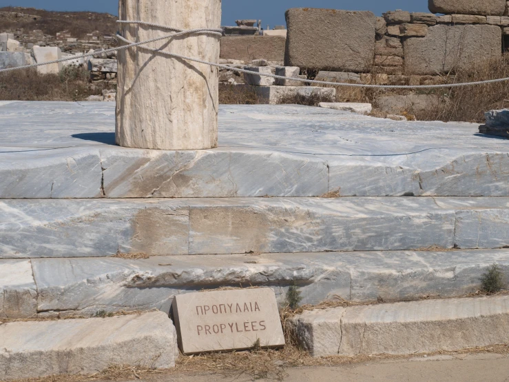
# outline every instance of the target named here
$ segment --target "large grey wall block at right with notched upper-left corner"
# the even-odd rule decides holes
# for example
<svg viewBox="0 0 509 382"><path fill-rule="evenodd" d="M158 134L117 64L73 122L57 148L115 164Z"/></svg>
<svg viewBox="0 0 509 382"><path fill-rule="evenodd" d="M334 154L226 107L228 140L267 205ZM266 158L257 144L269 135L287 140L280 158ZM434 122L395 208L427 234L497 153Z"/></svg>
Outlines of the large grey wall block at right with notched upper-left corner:
<svg viewBox="0 0 509 382"><path fill-rule="evenodd" d="M498 26L439 24L428 28L426 37L404 41L405 73L437 74L501 57Z"/></svg>

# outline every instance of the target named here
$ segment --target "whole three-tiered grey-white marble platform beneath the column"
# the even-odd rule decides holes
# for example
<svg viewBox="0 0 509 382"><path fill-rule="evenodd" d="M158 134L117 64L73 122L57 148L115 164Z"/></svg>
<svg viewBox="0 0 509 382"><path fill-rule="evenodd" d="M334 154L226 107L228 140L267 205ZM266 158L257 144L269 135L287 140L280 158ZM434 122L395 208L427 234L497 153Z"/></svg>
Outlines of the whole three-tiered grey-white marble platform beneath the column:
<svg viewBox="0 0 509 382"><path fill-rule="evenodd" d="M184 152L114 145L114 113L0 103L0 317L168 312L225 285L400 301L475 292L493 263L509 277L509 143L478 125L222 105L219 147Z"/></svg>

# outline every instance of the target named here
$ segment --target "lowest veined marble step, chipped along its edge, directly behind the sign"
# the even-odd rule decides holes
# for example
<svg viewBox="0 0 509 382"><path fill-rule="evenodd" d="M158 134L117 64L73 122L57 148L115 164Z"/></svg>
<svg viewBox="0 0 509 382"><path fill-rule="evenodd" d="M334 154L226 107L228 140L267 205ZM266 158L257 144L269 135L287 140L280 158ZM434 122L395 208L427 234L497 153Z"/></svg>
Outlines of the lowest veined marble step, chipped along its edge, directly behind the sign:
<svg viewBox="0 0 509 382"><path fill-rule="evenodd" d="M176 294L223 286L270 287L280 305L291 285L313 305L464 296L494 263L509 280L509 249L0 260L0 318L168 313Z"/></svg>

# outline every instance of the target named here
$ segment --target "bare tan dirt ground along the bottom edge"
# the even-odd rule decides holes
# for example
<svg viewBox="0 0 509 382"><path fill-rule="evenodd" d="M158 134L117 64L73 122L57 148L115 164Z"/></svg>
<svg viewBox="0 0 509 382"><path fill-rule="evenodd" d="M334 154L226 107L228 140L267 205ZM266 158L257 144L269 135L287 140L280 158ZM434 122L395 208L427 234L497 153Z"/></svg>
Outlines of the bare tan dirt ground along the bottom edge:
<svg viewBox="0 0 509 382"><path fill-rule="evenodd" d="M363 362L334 367L288 368L284 381L296 382L509 382L509 357L504 354L457 354L406 360ZM124 380L127 382L129 380ZM142 376L144 382L268 382L245 374L172 374Z"/></svg>

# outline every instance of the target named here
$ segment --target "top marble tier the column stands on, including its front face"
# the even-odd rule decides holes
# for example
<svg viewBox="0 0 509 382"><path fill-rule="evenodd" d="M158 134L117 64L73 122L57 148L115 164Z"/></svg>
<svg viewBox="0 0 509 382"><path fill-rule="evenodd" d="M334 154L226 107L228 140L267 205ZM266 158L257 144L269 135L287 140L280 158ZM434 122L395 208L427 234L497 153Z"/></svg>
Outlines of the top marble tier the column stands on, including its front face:
<svg viewBox="0 0 509 382"><path fill-rule="evenodd" d="M114 103L0 103L0 198L509 196L509 141L470 123L221 105L219 147L114 145Z"/></svg>

